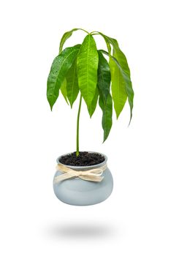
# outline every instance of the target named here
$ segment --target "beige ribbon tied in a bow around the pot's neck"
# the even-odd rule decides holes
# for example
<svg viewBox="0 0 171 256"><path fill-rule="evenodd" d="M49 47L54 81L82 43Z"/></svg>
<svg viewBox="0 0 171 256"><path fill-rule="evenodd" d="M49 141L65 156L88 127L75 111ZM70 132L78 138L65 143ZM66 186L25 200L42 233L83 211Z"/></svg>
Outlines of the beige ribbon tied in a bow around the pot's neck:
<svg viewBox="0 0 171 256"><path fill-rule="evenodd" d="M56 165L56 170L60 170L64 174L56 176L54 178L54 183L56 184L60 181L64 181L65 179L73 178L73 177L82 178L85 181L99 182L99 181L102 181L102 179L104 178L102 174L104 170L106 170L106 168L107 168L107 165L103 165L102 167L99 167L99 168L82 171L82 170L73 170L69 167L66 167L65 165L58 164Z"/></svg>

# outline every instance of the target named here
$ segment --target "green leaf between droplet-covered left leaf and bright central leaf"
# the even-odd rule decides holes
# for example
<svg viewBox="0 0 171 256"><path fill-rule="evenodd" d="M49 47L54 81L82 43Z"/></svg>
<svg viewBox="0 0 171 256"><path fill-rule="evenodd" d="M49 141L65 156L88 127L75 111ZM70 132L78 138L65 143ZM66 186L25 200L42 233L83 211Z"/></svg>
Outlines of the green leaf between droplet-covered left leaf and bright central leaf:
<svg viewBox="0 0 171 256"><path fill-rule="evenodd" d="M67 85L67 97L69 99L71 108L75 99L77 99L77 94L79 92L78 81L77 81L77 58L72 64L72 67L69 69L66 75Z"/></svg>

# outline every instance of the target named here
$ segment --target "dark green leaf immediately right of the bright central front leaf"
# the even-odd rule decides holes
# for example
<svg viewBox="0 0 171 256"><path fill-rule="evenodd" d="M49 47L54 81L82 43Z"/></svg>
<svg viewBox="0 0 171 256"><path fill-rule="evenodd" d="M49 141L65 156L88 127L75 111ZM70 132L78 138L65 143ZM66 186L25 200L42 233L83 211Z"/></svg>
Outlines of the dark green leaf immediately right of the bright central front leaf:
<svg viewBox="0 0 171 256"><path fill-rule="evenodd" d="M98 82L97 86L102 93L104 102L107 101L107 96L110 93L110 67L107 60L104 58L100 50L99 54L99 66L98 66Z"/></svg>

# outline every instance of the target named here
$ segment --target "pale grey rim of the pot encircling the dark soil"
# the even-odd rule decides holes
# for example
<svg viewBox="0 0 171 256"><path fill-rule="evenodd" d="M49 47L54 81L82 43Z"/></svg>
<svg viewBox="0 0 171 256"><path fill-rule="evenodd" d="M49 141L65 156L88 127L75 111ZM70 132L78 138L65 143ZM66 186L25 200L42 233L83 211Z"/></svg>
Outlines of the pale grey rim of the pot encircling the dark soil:
<svg viewBox="0 0 171 256"><path fill-rule="evenodd" d="M75 170L88 170L88 169L92 169L92 168L98 168L98 167L101 167L102 165L105 165L105 164L107 163L107 156L106 156L105 154L102 154L102 153L96 152L96 151L86 151L86 152L88 152L88 153L101 154L101 155L104 157L104 161L103 161L103 162L100 162L100 163L97 164L97 165L88 165L88 166L76 166L76 165L64 165L64 164L62 164L62 163L59 161L59 159L60 159L61 157L64 157L64 156L66 156L66 155L68 155L68 154L72 154L72 153L73 153L73 152L71 152L71 153L67 153L67 154L62 154L61 156L59 156L59 157L56 159L56 162L57 162L58 164L60 164L60 165L64 165L64 166L66 166L66 167L69 167L69 168L75 169Z"/></svg>

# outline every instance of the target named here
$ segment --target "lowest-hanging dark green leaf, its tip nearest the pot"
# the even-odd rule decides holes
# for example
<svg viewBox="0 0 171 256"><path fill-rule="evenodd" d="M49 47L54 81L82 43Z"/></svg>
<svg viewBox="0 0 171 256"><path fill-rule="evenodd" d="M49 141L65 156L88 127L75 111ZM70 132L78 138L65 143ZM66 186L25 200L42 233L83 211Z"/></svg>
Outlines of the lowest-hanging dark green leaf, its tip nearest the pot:
<svg viewBox="0 0 171 256"><path fill-rule="evenodd" d="M107 139L110 129L113 125L113 100L110 94L107 96L107 101L104 102L104 98L99 91L99 106L102 109L102 128L104 130L103 142Z"/></svg>

